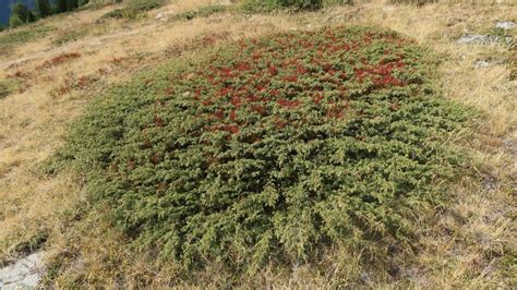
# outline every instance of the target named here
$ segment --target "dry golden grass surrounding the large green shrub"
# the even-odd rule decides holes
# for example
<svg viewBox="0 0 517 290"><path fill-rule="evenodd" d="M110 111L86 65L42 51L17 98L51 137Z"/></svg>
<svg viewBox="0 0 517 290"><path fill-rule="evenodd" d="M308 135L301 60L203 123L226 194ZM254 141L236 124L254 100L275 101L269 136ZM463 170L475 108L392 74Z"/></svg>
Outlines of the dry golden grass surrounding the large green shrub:
<svg viewBox="0 0 517 290"><path fill-rule="evenodd" d="M390 5L382 1L324 10L324 13L243 15L225 12L192 21L156 20L211 4L211 0L171 1L135 21L103 20L116 7L58 15L37 25L55 27L13 49L0 50L0 81L16 82L17 89L0 98L0 263L14 258L21 249L41 241L49 261L59 256L72 265L56 280L81 278L88 283L116 285L116 275L129 280L168 283L173 269L146 256L120 249L123 237L95 220L75 225L85 201L81 181L71 173L48 177L40 162L63 144L68 124L82 113L103 88L135 72L156 67L165 59L196 53L204 46L272 32L313 29L330 24L366 24L401 33L441 55L437 74L443 94L481 110L479 134L471 137L478 173L465 176L452 191L454 202L436 217L420 244L420 256L400 261L398 277L421 287L510 287L517 283L515 191L517 177L516 50L504 44L460 45L458 36L485 32L498 20L517 21L512 4L433 3ZM72 41L56 39L75 27L88 32ZM22 29L29 29L22 28ZM514 39L516 37L514 33ZM1 34L0 34L1 36ZM488 68L474 68L481 59ZM514 61L514 62L512 62ZM453 136L454 137L454 136ZM95 225L94 228L91 225ZM425 226L428 227L428 226ZM336 267L357 271L353 253L336 253ZM112 266L117 263L117 267ZM161 265L166 266L166 265ZM217 268L206 279L217 285ZM257 286L324 286L333 277L306 280L310 269L275 273L264 270ZM364 274L364 282L378 281ZM397 285L400 280L385 280Z"/></svg>

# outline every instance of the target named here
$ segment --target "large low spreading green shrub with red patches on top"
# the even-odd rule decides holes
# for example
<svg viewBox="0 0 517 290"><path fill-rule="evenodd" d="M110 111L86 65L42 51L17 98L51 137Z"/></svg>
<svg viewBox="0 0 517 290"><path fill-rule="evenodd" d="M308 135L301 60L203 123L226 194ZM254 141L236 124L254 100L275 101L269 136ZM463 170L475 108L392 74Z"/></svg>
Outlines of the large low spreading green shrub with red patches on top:
<svg viewBox="0 0 517 290"><path fill-rule="evenodd" d="M374 28L247 39L98 97L59 159L134 249L185 276L408 241L462 162L446 140L469 116L431 70Z"/></svg>

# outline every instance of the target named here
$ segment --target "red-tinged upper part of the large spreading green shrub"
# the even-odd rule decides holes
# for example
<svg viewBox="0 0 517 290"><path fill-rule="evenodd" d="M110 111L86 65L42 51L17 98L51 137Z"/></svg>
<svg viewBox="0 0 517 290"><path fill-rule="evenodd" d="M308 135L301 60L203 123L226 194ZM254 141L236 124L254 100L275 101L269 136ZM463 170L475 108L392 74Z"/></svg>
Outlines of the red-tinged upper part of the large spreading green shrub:
<svg viewBox="0 0 517 290"><path fill-rule="evenodd" d="M374 43L383 48L370 56L365 51ZM349 85L372 89L406 85L397 77L407 67L405 55L398 50L402 44L383 33L365 33L351 40L332 29L240 40L229 58L235 61L221 62L226 58L218 52L204 70L180 75L185 82L183 87L190 87L189 94L181 95L202 105L196 116L209 120L209 131L230 135L242 132L244 126L269 124L280 130L299 124L304 122L303 111L309 105L311 110L314 105L321 107L316 109L321 118L340 119L350 110ZM173 95L183 89L170 86L165 93ZM326 98L323 92L332 94ZM293 122L291 117L280 116L297 111L302 120ZM250 119L256 114L262 119ZM155 120L155 124L159 126L161 122Z"/></svg>

